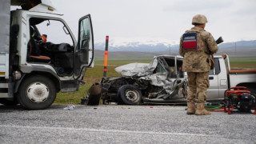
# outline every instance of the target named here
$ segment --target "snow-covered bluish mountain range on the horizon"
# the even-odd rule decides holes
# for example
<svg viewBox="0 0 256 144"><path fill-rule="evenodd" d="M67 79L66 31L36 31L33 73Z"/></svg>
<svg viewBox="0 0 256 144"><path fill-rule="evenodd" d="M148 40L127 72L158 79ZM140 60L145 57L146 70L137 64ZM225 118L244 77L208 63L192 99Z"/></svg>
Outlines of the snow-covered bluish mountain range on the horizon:
<svg viewBox="0 0 256 144"><path fill-rule="evenodd" d="M245 50L256 49L256 40L224 42L219 45L220 50ZM105 50L105 42L95 42L96 50ZM161 52L177 51L178 42L166 40L136 40L120 41L111 40L109 42L109 51L140 51L140 52Z"/></svg>

